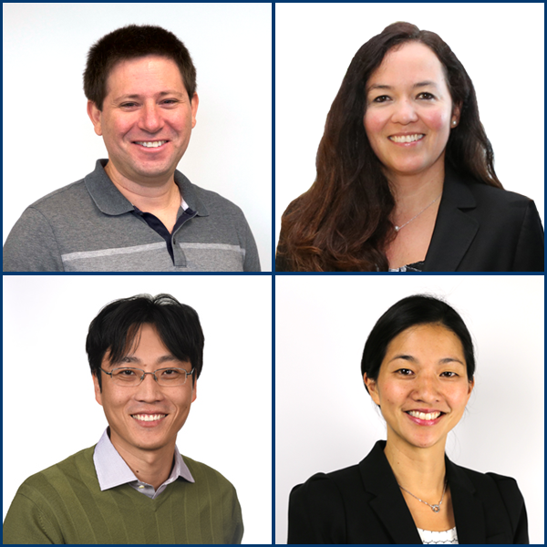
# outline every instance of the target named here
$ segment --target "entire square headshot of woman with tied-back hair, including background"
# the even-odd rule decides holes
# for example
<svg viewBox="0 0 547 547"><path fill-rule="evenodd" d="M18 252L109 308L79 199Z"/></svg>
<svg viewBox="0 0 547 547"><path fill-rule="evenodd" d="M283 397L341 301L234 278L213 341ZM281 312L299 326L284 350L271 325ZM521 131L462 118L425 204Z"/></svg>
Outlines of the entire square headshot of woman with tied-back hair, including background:
<svg viewBox="0 0 547 547"><path fill-rule="evenodd" d="M337 279L276 283L276 542L542 543L542 276Z"/></svg>

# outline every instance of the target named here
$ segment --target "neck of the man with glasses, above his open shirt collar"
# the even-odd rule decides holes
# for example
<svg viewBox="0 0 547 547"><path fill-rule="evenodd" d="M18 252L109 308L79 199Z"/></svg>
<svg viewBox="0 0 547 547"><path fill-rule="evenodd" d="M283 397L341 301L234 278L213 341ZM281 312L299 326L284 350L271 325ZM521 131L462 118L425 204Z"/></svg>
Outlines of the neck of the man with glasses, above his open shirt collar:
<svg viewBox="0 0 547 547"><path fill-rule="evenodd" d="M160 449L139 450L127 445L110 429L110 441L140 481L158 490L161 484L169 479L174 462L176 439Z"/></svg>

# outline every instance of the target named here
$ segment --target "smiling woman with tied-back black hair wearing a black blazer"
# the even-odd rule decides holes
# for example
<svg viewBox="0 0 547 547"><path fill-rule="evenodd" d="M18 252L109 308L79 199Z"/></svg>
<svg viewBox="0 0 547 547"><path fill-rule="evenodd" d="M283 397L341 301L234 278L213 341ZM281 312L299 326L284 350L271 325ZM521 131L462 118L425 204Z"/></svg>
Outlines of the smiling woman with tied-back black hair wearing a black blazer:
<svg viewBox="0 0 547 547"><path fill-rule="evenodd" d="M366 340L361 372L387 422L358 465L294 487L289 543L528 543L515 480L445 455L474 386L470 333L431 296L391 306Z"/></svg>

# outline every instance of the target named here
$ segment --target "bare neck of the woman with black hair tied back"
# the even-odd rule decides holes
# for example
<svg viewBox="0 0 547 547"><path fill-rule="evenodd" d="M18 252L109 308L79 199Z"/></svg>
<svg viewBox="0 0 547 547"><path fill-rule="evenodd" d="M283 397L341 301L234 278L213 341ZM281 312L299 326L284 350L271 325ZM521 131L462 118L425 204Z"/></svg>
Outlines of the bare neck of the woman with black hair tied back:
<svg viewBox="0 0 547 547"><path fill-rule="evenodd" d="M440 498L446 476L446 438L432 447L421 449L391 433L388 428L384 453L398 484L422 500L422 496L435 500L438 494Z"/></svg>

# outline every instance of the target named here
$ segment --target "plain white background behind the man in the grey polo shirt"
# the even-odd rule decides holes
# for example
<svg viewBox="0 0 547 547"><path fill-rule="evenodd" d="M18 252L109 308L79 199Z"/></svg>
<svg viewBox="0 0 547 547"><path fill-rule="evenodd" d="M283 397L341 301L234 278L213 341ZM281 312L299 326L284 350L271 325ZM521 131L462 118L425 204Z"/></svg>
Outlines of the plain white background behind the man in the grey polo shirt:
<svg viewBox="0 0 547 547"><path fill-rule="evenodd" d="M271 271L271 4L4 4L4 241L28 205L108 157L82 75L89 47L130 24L188 47L200 107L178 169L243 209Z"/></svg>

